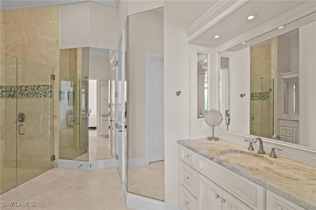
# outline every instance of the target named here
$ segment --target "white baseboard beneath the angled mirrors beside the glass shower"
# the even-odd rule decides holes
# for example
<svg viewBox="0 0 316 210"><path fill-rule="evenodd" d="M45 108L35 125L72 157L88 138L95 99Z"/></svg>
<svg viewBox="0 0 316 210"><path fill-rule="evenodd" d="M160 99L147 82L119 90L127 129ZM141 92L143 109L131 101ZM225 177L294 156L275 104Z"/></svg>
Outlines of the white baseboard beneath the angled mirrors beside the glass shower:
<svg viewBox="0 0 316 210"><path fill-rule="evenodd" d="M117 167L117 159L116 158L108 158L102 160L66 160L59 159L58 160L58 168L62 169L74 169L80 171L93 171L98 169L107 169Z"/></svg>

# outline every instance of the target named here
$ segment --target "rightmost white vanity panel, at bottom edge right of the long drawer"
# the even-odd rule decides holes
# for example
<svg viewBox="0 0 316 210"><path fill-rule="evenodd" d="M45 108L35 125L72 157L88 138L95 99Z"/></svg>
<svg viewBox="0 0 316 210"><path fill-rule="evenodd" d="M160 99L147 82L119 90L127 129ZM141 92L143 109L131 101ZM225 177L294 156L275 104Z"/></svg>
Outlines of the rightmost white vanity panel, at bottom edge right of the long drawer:
<svg viewBox="0 0 316 210"><path fill-rule="evenodd" d="M304 210L302 207L289 200L267 190L266 193L267 210Z"/></svg>

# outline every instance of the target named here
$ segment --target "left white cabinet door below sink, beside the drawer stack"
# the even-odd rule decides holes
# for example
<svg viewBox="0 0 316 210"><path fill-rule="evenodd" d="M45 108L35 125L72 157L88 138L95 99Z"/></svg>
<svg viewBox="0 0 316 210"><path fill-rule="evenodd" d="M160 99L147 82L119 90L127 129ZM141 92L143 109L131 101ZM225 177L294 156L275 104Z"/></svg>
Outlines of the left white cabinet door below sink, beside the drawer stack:
<svg viewBox="0 0 316 210"><path fill-rule="evenodd" d="M206 178L197 175L197 209L198 210L221 210L220 197L222 188Z"/></svg>

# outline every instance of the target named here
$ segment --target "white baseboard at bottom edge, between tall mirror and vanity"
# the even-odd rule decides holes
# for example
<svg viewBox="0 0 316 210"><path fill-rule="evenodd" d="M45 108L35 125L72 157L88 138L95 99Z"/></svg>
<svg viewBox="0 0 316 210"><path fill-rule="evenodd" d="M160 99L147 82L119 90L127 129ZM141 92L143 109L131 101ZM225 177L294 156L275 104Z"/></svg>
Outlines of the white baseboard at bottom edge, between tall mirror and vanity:
<svg viewBox="0 0 316 210"><path fill-rule="evenodd" d="M182 210L178 205L178 200L162 202L128 192L126 192L125 201L126 206L134 210Z"/></svg>

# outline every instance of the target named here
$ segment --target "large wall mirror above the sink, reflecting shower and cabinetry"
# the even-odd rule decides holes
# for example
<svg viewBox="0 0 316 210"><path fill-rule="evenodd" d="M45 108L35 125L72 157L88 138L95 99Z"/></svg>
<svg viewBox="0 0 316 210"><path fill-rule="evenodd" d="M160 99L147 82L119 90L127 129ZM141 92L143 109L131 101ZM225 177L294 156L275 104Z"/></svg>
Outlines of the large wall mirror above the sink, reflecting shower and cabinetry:
<svg viewBox="0 0 316 210"><path fill-rule="evenodd" d="M219 53L219 108L230 118L220 129L316 148L315 21L314 12Z"/></svg>

